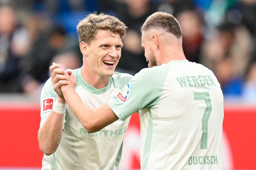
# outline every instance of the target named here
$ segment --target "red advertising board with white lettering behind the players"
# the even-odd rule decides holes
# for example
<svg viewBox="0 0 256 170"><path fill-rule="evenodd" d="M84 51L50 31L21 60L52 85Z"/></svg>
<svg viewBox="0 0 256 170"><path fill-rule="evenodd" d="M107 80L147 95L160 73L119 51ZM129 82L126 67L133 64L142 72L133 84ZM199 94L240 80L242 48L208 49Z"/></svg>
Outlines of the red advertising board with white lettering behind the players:
<svg viewBox="0 0 256 170"><path fill-rule="evenodd" d="M223 122L223 163L227 170L256 169L256 106L225 106ZM40 168L38 147L40 106L0 105L0 169ZM132 115L124 138L120 169L140 168L140 121Z"/></svg>

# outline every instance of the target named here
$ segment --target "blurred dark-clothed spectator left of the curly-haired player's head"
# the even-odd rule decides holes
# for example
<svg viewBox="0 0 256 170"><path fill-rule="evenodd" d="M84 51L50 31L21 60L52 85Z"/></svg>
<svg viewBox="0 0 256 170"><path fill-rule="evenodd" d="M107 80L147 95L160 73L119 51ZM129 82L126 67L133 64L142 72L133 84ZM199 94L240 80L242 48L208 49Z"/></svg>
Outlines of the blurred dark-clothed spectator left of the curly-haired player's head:
<svg viewBox="0 0 256 170"><path fill-rule="evenodd" d="M41 31L38 34L26 59L30 64L27 65L28 68L21 79L23 92L28 95L36 96L38 90L41 90L41 85L48 80L49 65L52 64L54 56L67 51L78 53L79 50L78 43L69 44L71 39L68 39L62 26L48 29L48 32Z"/></svg>

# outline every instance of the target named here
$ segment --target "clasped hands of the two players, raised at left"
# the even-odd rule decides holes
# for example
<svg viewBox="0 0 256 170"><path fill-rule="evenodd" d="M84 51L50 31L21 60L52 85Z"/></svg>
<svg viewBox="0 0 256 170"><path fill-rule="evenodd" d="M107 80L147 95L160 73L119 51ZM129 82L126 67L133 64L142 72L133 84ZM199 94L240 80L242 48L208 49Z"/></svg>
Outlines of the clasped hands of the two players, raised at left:
<svg viewBox="0 0 256 170"><path fill-rule="evenodd" d="M50 66L52 86L58 95L57 100L66 103L63 92L74 89L76 86L76 77L71 70L64 70L60 64L52 63Z"/></svg>

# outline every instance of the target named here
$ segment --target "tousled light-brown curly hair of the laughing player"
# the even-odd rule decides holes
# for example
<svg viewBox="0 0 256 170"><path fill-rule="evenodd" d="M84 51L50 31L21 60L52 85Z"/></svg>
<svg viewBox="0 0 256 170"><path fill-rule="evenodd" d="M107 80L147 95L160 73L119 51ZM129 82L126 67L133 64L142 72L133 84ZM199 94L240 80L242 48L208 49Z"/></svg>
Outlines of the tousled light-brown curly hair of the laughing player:
<svg viewBox="0 0 256 170"><path fill-rule="evenodd" d="M119 33L120 38L122 39L126 34L127 26L114 16L103 13L91 13L78 23L76 29L79 43L84 41L90 45L92 40L96 37L99 29Z"/></svg>

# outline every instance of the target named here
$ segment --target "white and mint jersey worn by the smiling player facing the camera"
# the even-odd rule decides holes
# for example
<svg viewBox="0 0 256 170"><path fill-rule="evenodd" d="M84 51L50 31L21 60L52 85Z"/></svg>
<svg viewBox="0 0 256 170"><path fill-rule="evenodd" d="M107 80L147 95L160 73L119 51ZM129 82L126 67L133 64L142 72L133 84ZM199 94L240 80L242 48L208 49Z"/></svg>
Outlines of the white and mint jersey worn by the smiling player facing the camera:
<svg viewBox="0 0 256 170"><path fill-rule="evenodd" d="M73 71L76 76L76 92L81 100L92 109L106 104L132 78L130 74L114 72L108 85L96 89L87 84L81 69ZM57 95L49 79L41 94L41 122L47 119ZM118 120L96 133L87 133L69 106L63 122L63 134L56 152L44 155L42 170L117 170L122 154L124 134L130 117Z"/></svg>

